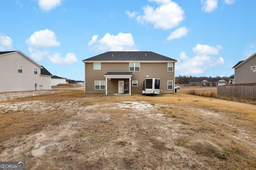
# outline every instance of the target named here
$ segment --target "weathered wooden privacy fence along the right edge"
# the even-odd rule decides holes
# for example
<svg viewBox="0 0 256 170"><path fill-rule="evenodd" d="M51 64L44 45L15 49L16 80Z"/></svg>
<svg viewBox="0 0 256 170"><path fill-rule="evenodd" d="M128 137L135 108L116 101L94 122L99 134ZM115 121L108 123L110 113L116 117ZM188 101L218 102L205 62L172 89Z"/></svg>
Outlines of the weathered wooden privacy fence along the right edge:
<svg viewBox="0 0 256 170"><path fill-rule="evenodd" d="M217 94L241 98L256 98L256 83L217 86Z"/></svg>

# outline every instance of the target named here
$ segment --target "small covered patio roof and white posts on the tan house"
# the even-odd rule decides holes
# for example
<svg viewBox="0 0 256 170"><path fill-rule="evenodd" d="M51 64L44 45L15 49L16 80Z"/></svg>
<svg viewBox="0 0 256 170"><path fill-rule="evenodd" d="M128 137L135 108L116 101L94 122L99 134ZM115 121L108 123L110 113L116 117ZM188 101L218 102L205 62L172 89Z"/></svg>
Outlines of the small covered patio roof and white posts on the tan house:
<svg viewBox="0 0 256 170"><path fill-rule="evenodd" d="M131 96L131 80L132 72L107 72L104 74L106 78L106 96L108 95L108 80L113 79L129 79L129 96Z"/></svg>

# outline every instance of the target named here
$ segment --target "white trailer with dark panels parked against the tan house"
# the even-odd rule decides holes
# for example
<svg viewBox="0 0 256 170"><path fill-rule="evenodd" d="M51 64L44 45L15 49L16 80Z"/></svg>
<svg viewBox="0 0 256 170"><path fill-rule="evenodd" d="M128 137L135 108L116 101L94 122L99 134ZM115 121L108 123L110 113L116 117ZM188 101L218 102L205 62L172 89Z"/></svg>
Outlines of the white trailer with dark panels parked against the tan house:
<svg viewBox="0 0 256 170"><path fill-rule="evenodd" d="M160 79L146 78L143 82L142 95L144 94L160 94Z"/></svg>

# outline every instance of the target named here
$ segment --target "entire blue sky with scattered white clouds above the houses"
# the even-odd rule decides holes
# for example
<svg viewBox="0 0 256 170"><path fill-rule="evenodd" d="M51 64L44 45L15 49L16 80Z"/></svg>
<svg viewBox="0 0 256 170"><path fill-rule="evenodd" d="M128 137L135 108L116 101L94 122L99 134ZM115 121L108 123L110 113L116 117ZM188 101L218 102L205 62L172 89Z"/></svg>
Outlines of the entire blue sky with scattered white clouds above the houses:
<svg viewBox="0 0 256 170"><path fill-rule="evenodd" d="M4 0L0 51L21 51L53 75L84 80L82 60L152 51L175 76L230 76L256 52L255 0Z"/></svg>

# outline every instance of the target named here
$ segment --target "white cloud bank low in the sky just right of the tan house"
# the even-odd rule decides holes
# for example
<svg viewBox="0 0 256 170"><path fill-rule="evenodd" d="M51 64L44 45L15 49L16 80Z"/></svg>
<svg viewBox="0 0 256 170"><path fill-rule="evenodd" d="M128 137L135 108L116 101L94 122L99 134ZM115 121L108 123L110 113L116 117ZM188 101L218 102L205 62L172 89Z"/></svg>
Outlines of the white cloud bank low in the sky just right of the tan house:
<svg viewBox="0 0 256 170"><path fill-rule="evenodd" d="M221 46L218 47L220 48ZM196 50L196 53L194 50ZM219 54L219 49L216 47L198 44L193 48L193 51L196 56L192 58L186 56L185 52L180 53L180 58L178 59L175 68L178 74L198 75L224 64L224 59L222 57L219 57L218 59L210 57L210 55Z"/></svg>

